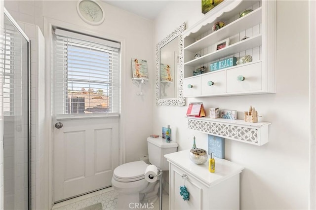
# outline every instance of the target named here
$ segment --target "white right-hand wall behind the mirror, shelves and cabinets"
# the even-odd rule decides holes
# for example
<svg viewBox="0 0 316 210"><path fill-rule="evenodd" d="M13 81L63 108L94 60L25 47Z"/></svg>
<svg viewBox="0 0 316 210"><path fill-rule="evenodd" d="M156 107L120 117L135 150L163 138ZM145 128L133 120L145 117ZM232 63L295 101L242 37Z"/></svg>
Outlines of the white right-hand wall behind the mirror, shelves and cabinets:
<svg viewBox="0 0 316 210"><path fill-rule="evenodd" d="M155 21L155 43L181 23L189 28L203 16L200 1L170 2ZM225 159L245 167L240 176L241 209L308 209L308 1L277 1L276 25L276 94L186 99L186 104L203 102L206 109L236 109L239 119L252 105L262 121L272 123L269 143L263 146L225 140ZM187 129L187 106L153 106L154 133L170 125L178 150L192 147L192 134L198 147L207 148L207 135Z"/></svg>

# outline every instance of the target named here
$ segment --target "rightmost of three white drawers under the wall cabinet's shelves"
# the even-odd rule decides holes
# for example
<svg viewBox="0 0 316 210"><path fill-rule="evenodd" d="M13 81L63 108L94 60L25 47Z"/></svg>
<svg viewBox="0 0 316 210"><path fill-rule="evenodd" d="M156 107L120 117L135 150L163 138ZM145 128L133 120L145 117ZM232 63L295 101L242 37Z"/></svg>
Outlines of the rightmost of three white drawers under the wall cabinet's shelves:
<svg viewBox="0 0 316 210"><path fill-rule="evenodd" d="M227 70L227 93L252 92L261 89L261 62Z"/></svg>

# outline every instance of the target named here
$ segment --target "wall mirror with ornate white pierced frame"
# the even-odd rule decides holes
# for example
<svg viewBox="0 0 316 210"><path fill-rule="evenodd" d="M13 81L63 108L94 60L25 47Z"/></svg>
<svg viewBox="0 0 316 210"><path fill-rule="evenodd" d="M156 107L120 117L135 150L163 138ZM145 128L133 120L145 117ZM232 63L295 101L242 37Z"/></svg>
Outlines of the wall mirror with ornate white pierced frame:
<svg viewBox="0 0 316 210"><path fill-rule="evenodd" d="M186 24L156 45L156 105L183 106L183 35Z"/></svg>

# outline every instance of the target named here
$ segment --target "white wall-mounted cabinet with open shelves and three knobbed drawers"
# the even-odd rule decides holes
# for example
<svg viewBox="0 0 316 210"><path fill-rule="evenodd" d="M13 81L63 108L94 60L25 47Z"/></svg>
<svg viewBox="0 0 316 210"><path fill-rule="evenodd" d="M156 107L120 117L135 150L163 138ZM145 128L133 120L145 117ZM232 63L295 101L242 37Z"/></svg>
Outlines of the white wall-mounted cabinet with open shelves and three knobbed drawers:
<svg viewBox="0 0 316 210"><path fill-rule="evenodd" d="M250 13L240 17L249 9ZM225 26L212 31L217 21ZM184 97L276 92L276 1L223 1L184 31L183 37ZM229 43L218 50L216 45L227 39ZM196 58L196 54L201 56ZM212 63L232 57L238 61L245 55L250 55L252 62L210 71ZM193 76L193 71L203 66L204 73ZM215 79L214 84L209 82Z"/></svg>

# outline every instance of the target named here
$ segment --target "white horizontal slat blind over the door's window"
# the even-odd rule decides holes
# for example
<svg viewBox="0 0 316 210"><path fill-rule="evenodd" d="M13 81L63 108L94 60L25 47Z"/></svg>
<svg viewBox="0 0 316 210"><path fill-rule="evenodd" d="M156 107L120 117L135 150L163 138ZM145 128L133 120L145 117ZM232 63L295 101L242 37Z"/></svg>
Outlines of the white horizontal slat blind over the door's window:
<svg viewBox="0 0 316 210"><path fill-rule="evenodd" d="M55 113L118 113L119 43L54 32Z"/></svg>

